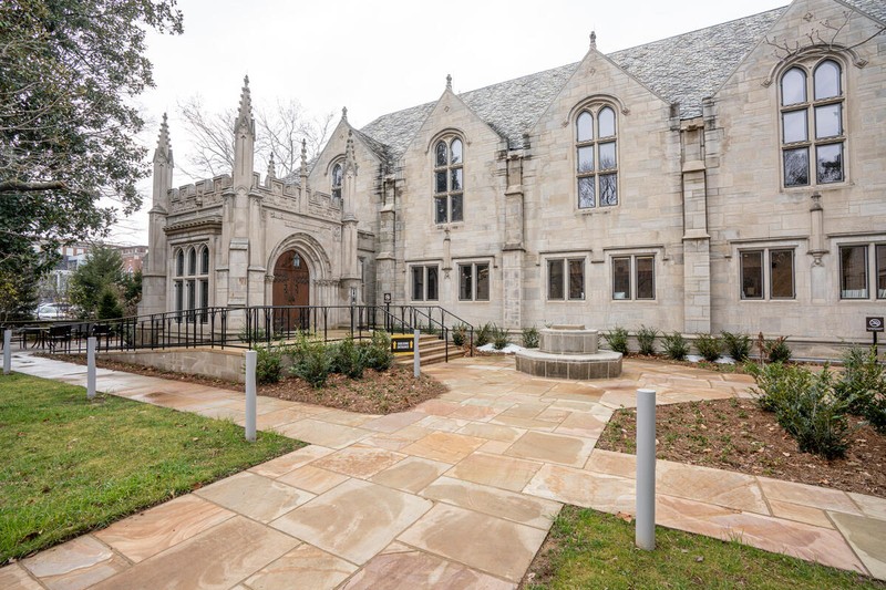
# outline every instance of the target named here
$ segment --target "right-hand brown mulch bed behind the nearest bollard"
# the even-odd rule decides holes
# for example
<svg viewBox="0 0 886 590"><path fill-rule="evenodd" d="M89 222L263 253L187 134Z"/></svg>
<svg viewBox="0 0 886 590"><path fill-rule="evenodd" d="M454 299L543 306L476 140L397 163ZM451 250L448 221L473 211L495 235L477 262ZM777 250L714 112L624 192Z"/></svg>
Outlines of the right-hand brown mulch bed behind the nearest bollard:
<svg viewBox="0 0 886 590"><path fill-rule="evenodd" d="M753 400L715 400L656 408L660 459L762 475L886 498L886 436L859 420L844 458L801 453L796 442ZM635 453L637 413L619 410L597 448Z"/></svg>

